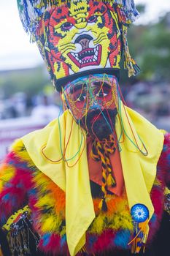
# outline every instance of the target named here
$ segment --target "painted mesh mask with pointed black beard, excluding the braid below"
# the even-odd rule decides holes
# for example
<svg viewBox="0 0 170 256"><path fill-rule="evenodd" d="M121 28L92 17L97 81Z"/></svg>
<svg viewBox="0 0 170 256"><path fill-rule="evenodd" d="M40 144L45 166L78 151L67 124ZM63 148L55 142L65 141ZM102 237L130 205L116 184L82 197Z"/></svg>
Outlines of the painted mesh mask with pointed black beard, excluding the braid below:
<svg viewBox="0 0 170 256"><path fill-rule="evenodd" d="M96 140L102 141L114 133L117 85L115 76L89 75L68 83L63 89L66 105L75 120Z"/></svg>

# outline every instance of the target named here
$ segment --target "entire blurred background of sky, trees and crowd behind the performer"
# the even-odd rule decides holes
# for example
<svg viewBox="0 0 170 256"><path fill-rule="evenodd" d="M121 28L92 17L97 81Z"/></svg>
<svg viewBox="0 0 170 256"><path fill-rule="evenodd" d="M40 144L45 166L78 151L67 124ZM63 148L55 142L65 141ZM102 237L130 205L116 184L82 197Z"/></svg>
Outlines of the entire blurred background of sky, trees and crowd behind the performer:
<svg viewBox="0 0 170 256"><path fill-rule="evenodd" d="M0 2L0 159L15 138L58 117L61 102L42 57L20 23L16 1ZM141 13L128 31L131 55L142 69L121 72L125 102L170 132L170 1L136 0Z"/></svg>

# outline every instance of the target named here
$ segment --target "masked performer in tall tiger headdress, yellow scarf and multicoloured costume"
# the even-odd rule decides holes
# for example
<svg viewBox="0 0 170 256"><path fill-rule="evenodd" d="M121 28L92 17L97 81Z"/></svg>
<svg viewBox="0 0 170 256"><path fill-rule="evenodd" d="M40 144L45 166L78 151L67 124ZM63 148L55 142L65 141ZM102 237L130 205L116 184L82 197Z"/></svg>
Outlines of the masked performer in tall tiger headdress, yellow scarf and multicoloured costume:
<svg viewBox="0 0 170 256"><path fill-rule="evenodd" d="M18 0L63 115L0 170L2 255L168 255L170 135L125 106L132 0Z"/></svg>

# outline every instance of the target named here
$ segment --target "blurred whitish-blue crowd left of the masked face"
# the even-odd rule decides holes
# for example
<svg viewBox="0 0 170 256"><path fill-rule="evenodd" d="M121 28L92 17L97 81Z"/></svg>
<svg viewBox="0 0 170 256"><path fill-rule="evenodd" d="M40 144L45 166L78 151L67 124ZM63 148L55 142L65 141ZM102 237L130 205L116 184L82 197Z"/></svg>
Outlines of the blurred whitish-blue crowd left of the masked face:
<svg viewBox="0 0 170 256"><path fill-rule="evenodd" d="M31 116L49 122L59 116L59 105L60 99L57 93L51 95L39 93L30 98L26 93L18 92L9 99L0 99L0 120Z"/></svg>

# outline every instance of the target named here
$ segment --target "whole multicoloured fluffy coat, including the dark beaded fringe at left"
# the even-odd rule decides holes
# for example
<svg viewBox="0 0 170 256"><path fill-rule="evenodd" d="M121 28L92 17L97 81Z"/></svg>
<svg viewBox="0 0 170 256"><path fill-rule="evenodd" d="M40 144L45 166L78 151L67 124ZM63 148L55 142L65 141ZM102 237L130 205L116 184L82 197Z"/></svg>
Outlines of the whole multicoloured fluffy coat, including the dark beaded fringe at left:
<svg viewBox="0 0 170 256"><path fill-rule="evenodd" d="M128 243L133 238L134 227L125 191L120 197L107 195L108 211L101 212L98 209L101 189L93 182L90 185L96 218L88 228L86 244L79 255L131 255ZM149 248L161 229L163 208L166 212L170 209L169 195L165 195L165 187L169 185L170 134L166 134L150 193L155 213L150 221ZM14 144L1 165L0 227L4 255L69 255L65 193L36 168L22 140ZM166 243L166 238L163 241Z"/></svg>

